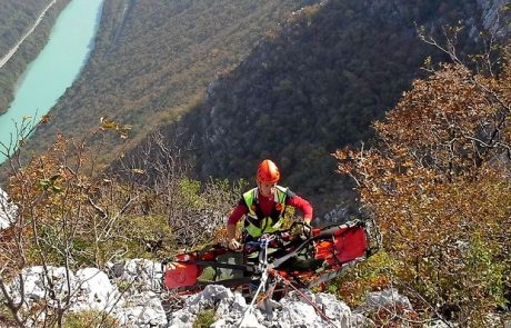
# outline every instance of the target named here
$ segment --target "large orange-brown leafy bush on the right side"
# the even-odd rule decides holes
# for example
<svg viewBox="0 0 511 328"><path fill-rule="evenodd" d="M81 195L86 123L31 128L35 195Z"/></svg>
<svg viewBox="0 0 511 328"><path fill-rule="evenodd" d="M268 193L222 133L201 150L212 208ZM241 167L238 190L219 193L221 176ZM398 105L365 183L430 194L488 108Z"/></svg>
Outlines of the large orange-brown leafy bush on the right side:
<svg viewBox="0 0 511 328"><path fill-rule="evenodd" d="M462 326L509 306L510 73L442 66L374 123L370 149L335 153L379 220L397 282Z"/></svg>

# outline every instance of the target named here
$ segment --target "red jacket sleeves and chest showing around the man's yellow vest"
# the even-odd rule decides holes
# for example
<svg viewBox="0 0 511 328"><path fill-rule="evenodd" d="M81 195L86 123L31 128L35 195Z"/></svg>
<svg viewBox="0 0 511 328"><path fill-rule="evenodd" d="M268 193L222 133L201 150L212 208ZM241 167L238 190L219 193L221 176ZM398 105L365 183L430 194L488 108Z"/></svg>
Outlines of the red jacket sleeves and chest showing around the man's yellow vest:
<svg viewBox="0 0 511 328"><path fill-rule="evenodd" d="M259 208L264 213L264 216L270 216L271 211L273 210L275 206L273 196L264 197L261 195L261 192L259 192L258 200L259 200ZM312 219L312 206L309 203L309 201L304 200L300 196L297 196L294 192L290 190L288 190L288 197L285 198L285 205L298 208L302 212L304 218L308 217ZM244 200L241 199L238 206L232 210L232 213L229 216L227 223L228 225L238 223L238 221L241 220L241 218L248 212L249 212L249 208L247 207Z"/></svg>

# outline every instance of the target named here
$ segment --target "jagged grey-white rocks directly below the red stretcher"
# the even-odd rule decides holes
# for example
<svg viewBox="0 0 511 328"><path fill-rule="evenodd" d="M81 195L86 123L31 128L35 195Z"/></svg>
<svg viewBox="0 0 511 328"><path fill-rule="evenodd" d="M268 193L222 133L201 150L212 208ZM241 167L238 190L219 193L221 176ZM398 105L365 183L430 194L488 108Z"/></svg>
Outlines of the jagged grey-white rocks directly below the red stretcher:
<svg viewBox="0 0 511 328"><path fill-rule="evenodd" d="M323 310L319 314L309 302ZM232 292L223 286L208 286L202 292L191 296L184 307L171 314L170 327L193 327L197 316L208 309L214 310L218 320L211 326L216 328L234 327L364 327L370 320L351 309L333 295L303 295L292 291L280 301L261 302L251 308L240 294Z"/></svg>

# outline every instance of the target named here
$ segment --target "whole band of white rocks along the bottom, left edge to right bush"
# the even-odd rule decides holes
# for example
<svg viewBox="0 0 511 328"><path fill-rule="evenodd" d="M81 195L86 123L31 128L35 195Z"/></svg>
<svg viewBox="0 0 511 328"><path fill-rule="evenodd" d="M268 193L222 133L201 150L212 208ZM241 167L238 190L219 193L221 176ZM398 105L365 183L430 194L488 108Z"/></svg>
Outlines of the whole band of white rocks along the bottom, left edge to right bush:
<svg viewBox="0 0 511 328"><path fill-rule="evenodd" d="M217 328L351 328L373 327L364 314L382 307L402 304L402 308L411 309L408 298L393 289L370 294L365 305L355 310L333 295L309 290L291 291L279 301L267 299L252 306L241 294L216 285L170 301L169 292L161 290L162 274L160 264L144 259L110 264L107 271L84 268L72 272L66 268L38 266L21 272L23 288L20 280L14 279L8 291L14 304L22 301L23 312L34 314L27 320L27 327L37 327L54 308L108 314L121 327L182 328L193 327L197 318L208 310L214 314L216 321L211 327Z"/></svg>

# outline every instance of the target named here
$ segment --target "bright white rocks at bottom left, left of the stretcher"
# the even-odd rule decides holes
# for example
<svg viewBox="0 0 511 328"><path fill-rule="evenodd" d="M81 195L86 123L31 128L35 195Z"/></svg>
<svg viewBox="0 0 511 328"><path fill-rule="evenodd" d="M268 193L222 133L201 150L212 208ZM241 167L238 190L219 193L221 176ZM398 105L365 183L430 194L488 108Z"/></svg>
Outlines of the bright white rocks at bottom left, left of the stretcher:
<svg viewBox="0 0 511 328"><path fill-rule="evenodd" d="M36 314L28 319L28 327L36 327L51 312L50 308L109 314L121 327L166 327L160 298L161 265L134 259L117 266L116 274L109 277L97 268L72 272L62 267L31 267L21 272L23 288L20 279L14 279L9 294L14 304L22 301L27 312Z"/></svg>

